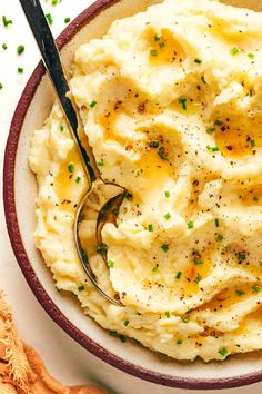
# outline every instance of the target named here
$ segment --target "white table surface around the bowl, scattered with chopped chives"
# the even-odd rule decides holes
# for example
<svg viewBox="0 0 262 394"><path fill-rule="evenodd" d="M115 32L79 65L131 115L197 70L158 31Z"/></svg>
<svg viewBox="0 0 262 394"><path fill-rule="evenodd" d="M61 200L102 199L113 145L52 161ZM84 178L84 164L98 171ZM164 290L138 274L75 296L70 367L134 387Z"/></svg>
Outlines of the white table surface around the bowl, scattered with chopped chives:
<svg viewBox="0 0 262 394"><path fill-rule="evenodd" d="M54 7L51 4L51 0L42 0L44 10L53 16L54 36L58 36L66 27L66 17L72 19L91 2L92 0L61 0L61 3ZM2 16L12 19L13 24L4 28L0 20L0 82L3 85L0 90L1 166L12 114L30 73L40 58L19 0L0 0L1 19ZM8 45L6 51L2 50L3 42ZM21 56L17 55L19 45L26 46L26 51ZM23 75L17 72L18 67L24 68ZM110 393L118 394L200 393L162 387L132 377L94 357L63 333L38 304L18 267L6 229L2 204L0 206L0 289L6 292L12 305L19 335L34 346L47 367L61 382L69 385L93 382L107 387ZM206 393L218 392L208 391ZM249 387L225 390L223 393L261 394L262 383Z"/></svg>

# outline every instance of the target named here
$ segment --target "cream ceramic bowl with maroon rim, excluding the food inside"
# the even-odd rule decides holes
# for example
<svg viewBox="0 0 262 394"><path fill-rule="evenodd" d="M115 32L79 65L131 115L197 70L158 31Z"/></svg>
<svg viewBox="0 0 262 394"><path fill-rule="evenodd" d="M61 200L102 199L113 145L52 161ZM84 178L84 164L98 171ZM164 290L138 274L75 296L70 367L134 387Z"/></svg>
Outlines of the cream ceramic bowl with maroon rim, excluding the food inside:
<svg viewBox="0 0 262 394"><path fill-rule="evenodd" d="M234 6L262 10L258 0L226 0ZM144 10L158 0L98 0L81 13L58 38L66 69L75 49L102 37L110 23ZM42 126L53 104L53 90L39 63L13 116L4 159L4 208L7 226L18 263L43 308L72 338L107 363L137 377L183 388L223 388L262 380L261 353L233 356L218 363L179 363L129 341L122 344L84 316L77 301L61 295L42 257L34 248L36 179L28 166L32 132Z"/></svg>

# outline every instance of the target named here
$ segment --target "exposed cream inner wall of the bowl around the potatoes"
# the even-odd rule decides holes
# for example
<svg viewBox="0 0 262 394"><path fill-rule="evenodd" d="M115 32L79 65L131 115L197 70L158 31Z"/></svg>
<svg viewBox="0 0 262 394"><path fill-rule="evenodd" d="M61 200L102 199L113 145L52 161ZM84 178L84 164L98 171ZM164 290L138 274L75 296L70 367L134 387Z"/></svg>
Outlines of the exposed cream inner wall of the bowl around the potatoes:
<svg viewBox="0 0 262 394"><path fill-rule="evenodd" d="M161 1L123 0L104 10L79 33L77 33L71 42L64 47L62 58L66 68L70 68L75 49L81 43L87 42L92 38L103 36L113 20L131 16L138 11L144 10L149 4ZM229 2L234 6L245 6L256 10L262 10L262 1L260 0L231 0ZM73 325L75 325L97 344L124 361L129 361L151 372L201 380L203 377L228 378L262 370L261 354L234 356L225 363L204 364L201 361L196 361L194 363L187 363L185 366L185 363L178 363L159 354L153 354L143 347L134 345L131 341L123 345L119 339L110 337L109 333L100 328L91 318L84 316L79 304L73 297L61 295L56 290L52 276L46 268L43 260L40 254L36 250L33 244L33 232L36 227L34 199L37 195L37 185L34 177L28 167L28 152L32 131L41 127L51 110L52 104L53 91L47 76L44 76L30 105L21 130L16 162L14 188L17 191L16 204L18 220L28 257L37 277L53 303L68 317L68 319L72 322Z"/></svg>

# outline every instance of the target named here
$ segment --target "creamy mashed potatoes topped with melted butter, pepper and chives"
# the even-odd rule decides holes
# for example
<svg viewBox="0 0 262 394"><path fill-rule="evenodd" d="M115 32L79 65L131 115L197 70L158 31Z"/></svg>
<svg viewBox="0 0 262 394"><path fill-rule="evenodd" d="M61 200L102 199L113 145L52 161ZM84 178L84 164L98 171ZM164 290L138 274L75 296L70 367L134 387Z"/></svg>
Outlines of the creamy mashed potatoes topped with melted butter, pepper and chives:
<svg viewBox="0 0 262 394"><path fill-rule="evenodd" d="M58 105L34 132L37 247L58 288L123 342L205 362L262 348L261 65L262 14L211 0L165 0L77 51L71 90L99 168L129 190L103 229L109 269L92 210L81 237L124 307L77 257L87 179Z"/></svg>

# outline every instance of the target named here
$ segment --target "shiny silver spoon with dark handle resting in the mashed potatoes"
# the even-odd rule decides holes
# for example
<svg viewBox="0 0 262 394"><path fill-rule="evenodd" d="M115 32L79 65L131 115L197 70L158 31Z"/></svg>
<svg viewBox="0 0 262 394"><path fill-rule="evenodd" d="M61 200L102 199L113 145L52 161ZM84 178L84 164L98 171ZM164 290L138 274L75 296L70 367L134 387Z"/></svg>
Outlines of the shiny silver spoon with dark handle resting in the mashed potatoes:
<svg viewBox="0 0 262 394"><path fill-rule="evenodd" d="M92 149L85 138L87 149L83 148L80 140L80 136L84 138L83 125L81 118L78 114L77 106L73 102L73 99L68 97L70 92L68 79L62 67L59 51L57 49L54 39L52 37L51 30L44 17L43 10L39 0L20 0L20 3L23 8L32 33L37 40L38 47L42 55L42 60L46 66L46 69L49 73L49 77L52 81L57 96L59 98L60 105L63 109L66 119L68 121L69 129L74 139L75 145L79 148L79 154L82 160L83 168L89 179L89 191L82 198L80 203L74 221L74 242L78 252L78 256L81 260L81 264L87 273L89 279L98 292L104 296L109 302L114 305L122 306L119 301L120 297L115 294L114 298L110 297L98 283L98 278L94 275L89 258L85 253L83 253L80 236L79 236L79 226L84 218L84 208L90 200L95 199L95 196L103 193L108 198L107 204L101 205L98 209L98 219L97 219L97 240L100 253L104 259L104 263L108 264L107 258L107 246L102 243L101 232L103 226L107 223L115 223L117 214L123 203L125 197L125 189L119 185L104 181L101 177L97 161L94 159Z"/></svg>

